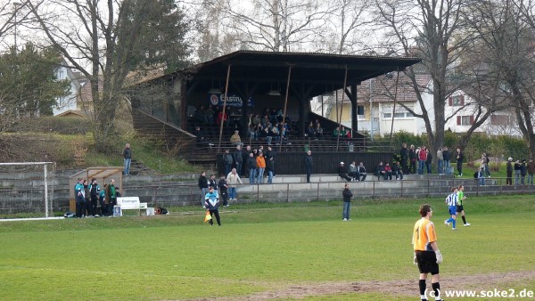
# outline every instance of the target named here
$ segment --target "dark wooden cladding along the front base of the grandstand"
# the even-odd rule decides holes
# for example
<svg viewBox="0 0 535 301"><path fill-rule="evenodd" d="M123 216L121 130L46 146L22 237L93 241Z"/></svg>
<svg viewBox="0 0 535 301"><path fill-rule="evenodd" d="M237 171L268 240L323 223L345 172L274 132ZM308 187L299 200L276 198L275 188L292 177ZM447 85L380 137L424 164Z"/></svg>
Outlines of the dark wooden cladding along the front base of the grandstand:
<svg viewBox="0 0 535 301"><path fill-rule="evenodd" d="M275 170L278 175L304 175L305 174L304 151L276 152ZM391 152L312 152L314 167L312 174L338 174L340 162L344 162L349 169L351 161L355 160L364 163L368 176L375 172L375 166L379 161L392 162L394 154ZM218 175L225 171L223 165L223 154L218 154Z"/></svg>

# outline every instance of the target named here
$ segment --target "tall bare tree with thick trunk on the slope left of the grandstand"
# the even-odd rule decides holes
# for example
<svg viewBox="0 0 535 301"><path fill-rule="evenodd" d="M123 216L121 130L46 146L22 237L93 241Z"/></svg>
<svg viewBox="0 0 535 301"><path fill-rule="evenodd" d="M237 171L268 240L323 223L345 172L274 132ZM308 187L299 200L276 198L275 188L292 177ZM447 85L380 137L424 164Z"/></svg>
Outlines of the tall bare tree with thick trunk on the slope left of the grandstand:
<svg viewBox="0 0 535 301"><path fill-rule="evenodd" d="M90 82L100 150L113 142L113 120L129 72L167 68L186 54L185 24L174 2L34 0L28 5L47 42ZM172 63L161 60L172 56Z"/></svg>

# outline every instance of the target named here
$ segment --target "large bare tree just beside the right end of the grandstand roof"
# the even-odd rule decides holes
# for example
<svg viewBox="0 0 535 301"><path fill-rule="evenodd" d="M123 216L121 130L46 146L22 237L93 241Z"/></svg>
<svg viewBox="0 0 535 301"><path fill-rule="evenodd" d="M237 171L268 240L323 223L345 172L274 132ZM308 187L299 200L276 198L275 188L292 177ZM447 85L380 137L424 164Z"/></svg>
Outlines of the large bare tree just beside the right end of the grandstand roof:
<svg viewBox="0 0 535 301"><path fill-rule="evenodd" d="M383 48L390 49L392 53L423 59L421 65L404 71L416 91L422 113L417 114L415 110L407 107L405 109L416 118L424 120L428 143L435 152L438 147L444 145L444 126L449 118L453 117L445 116L444 112L449 95L470 86L465 80L451 77L455 73L459 57L473 39L465 32L465 22L461 14L465 9L465 1L375 0L374 7L378 16L375 28L378 32L385 32ZM418 72L432 77L432 108L425 108L422 98L424 90L416 81ZM480 98L473 99L478 101ZM403 106L402 103L400 105ZM461 109L462 107L459 108ZM433 111L434 118L431 118L430 110ZM489 116L488 110L478 109L473 125L462 140L468 141L473 130L481 126Z"/></svg>

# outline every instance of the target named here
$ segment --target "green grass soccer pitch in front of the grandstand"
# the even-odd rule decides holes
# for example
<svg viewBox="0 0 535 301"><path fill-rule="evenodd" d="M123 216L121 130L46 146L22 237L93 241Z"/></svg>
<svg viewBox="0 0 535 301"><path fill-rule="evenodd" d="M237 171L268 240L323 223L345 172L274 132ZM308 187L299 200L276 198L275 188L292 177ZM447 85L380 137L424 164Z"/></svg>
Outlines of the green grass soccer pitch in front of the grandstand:
<svg viewBox="0 0 535 301"><path fill-rule="evenodd" d="M457 232L443 225L442 198L356 201L350 222L336 201L222 208L221 227L203 224L197 207L3 222L0 299L417 300L410 242L423 203L442 289L535 290L535 198L468 195L472 225L459 218Z"/></svg>

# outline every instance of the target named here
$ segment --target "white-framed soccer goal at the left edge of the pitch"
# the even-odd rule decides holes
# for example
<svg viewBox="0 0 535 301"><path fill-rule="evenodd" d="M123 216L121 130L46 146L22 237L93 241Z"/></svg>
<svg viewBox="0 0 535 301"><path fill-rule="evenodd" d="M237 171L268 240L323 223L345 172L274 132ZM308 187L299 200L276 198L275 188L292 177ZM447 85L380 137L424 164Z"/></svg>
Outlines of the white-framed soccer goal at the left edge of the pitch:
<svg viewBox="0 0 535 301"><path fill-rule="evenodd" d="M53 216L54 162L0 163L0 218Z"/></svg>

